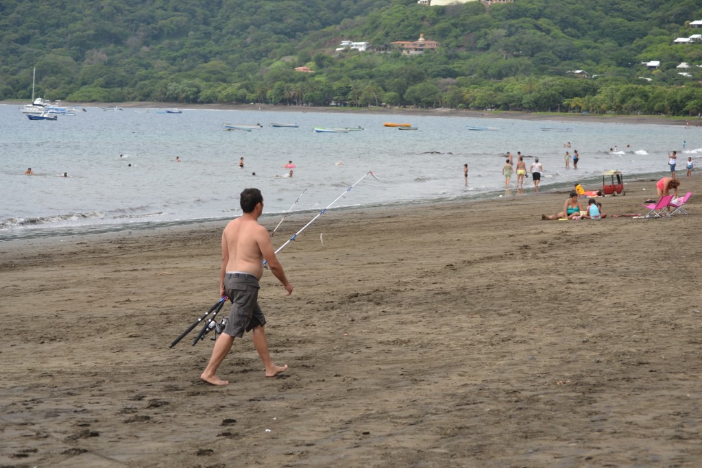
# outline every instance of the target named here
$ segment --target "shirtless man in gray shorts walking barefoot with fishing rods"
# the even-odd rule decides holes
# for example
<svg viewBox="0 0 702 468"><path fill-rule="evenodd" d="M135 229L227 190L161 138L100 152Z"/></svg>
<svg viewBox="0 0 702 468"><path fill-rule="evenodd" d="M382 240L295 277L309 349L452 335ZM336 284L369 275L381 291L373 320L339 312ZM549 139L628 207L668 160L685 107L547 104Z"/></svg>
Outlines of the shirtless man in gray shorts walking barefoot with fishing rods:
<svg viewBox="0 0 702 468"><path fill-rule="evenodd" d="M220 271L220 297L230 298L232 310L227 325L215 342L207 367L200 378L212 385L227 385L227 380L217 377L217 368L232 349L234 337L241 338L251 330L253 346L263 365L265 376L274 377L288 366L276 366L270 359L265 339L265 316L258 307L258 280L263 275L265 260L275 277L283 284L287 295L293 286L283 272L275 256L270 236L265 227L258 224L263 213L263 196L259 189L244 189L239 203L244 214L232 220L222 233L222 265Z"/></svg>

